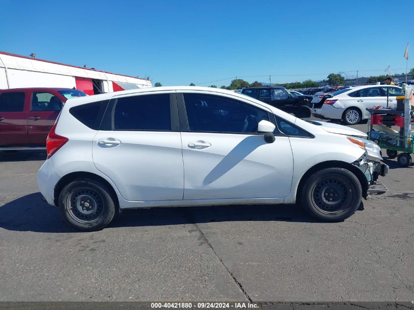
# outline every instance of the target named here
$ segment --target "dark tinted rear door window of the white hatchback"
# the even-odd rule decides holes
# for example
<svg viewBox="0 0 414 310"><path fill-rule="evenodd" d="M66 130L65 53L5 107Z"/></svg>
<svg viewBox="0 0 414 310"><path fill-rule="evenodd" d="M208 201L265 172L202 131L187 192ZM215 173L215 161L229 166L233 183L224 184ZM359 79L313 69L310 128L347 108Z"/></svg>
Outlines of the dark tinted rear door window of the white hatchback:
<svg viewBox="0 0 414 310"><path fill-rule="evenodd" d="M170 94L118 98L114 130L171 131Z"/></svg>

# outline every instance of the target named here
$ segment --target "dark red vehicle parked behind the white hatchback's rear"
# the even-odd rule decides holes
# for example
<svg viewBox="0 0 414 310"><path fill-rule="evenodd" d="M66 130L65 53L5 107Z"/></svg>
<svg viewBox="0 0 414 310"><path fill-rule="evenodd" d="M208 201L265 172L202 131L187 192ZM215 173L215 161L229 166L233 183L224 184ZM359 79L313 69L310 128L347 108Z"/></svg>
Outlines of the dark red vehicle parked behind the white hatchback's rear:
<svg viewBox="0 0 414 310"><path fill-rule="evenodd" d="M67 88L0 90L0 150L45 148L66 100L86 96Z"/></svg>

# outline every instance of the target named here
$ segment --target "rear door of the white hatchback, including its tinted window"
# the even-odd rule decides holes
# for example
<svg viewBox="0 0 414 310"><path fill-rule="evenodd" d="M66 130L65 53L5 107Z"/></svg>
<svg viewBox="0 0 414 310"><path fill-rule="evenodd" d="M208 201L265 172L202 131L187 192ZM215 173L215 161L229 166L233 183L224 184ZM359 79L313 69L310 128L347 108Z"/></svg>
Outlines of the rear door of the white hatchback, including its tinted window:
<svg viewBox="0 0 414 310"><path fill-rule="evenodd" d="M101 128L93 141L95 166L126 200L182 200L184 170L175 92L114 98L106 112L111 128Z"/></svg>

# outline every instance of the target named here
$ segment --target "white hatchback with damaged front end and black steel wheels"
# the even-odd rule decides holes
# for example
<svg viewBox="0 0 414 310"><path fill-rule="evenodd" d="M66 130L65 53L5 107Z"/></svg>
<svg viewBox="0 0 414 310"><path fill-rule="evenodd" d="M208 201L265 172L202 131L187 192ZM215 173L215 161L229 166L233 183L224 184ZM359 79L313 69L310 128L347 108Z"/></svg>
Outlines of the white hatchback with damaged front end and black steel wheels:
<svg viewBox="0 0 414 310"><path fill-rule="evenodd" d="M254 98L157 87L69 99L49 133L40 191L74 227L105 227L128 208L294 203L352 215L384 176L376 144Z"/></svg>

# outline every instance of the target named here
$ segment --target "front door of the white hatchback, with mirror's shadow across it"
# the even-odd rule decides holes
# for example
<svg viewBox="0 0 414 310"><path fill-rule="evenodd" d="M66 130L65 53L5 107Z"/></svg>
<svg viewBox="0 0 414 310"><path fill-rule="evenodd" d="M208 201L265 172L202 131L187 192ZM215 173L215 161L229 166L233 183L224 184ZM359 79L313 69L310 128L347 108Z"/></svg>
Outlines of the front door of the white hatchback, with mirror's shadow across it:
<svg viewBox="0 0 414 310"><path fill-rule="evenodd" d="M293 160L288 137L266 143L265 107L223 95L184 93L188 130L181 133L184 199L276 198L291 191ZM183 103L182 103L183 104ZM181 122L181 117L180 117Z"/></svg>

